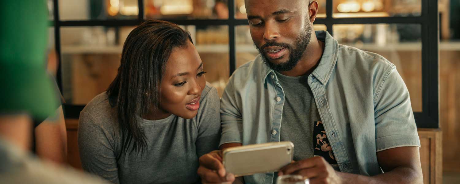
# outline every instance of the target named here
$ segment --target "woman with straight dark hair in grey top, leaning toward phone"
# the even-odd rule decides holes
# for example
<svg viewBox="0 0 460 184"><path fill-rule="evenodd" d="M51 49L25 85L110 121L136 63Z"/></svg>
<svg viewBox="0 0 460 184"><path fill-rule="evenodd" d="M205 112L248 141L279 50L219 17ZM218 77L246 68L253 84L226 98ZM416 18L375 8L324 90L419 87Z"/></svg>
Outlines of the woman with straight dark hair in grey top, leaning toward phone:
<svg viewBox="0 0 460 184"><path fill-rule="evenodd" d="M128 35L107 92L80 114L83 169L113 183L198 183L198 158L218 149L220 100L190 35L146 21Z"/></svg>

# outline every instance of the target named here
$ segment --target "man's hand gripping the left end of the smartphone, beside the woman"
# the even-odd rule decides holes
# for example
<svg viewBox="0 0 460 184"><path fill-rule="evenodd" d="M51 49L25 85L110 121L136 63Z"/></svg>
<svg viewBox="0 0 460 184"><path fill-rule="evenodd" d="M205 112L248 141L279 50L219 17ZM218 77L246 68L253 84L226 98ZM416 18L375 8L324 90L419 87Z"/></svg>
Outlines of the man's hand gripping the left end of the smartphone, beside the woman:
<svg viewBox="0 0 460 184"><path fill-rule="evenodd" d="M225 172L221 151L216 150L202 155L199 161L200 167L197 173L203 184L231 184L235 180L233 174Z"/></svg>

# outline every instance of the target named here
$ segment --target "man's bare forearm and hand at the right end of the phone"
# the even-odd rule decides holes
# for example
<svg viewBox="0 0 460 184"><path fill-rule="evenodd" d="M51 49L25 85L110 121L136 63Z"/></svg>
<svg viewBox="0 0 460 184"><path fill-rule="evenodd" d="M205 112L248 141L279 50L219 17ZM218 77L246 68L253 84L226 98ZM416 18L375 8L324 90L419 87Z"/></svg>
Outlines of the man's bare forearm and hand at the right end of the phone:
<svg viewBox="0 0 460 184"><path fill-rule="evenodd" d="M322 157L313 157L283 167L279 175L299 174L311 184L421 184L423 183L418 147L398 147L377 153L385 173L375 176L341 173Z"/></svg>

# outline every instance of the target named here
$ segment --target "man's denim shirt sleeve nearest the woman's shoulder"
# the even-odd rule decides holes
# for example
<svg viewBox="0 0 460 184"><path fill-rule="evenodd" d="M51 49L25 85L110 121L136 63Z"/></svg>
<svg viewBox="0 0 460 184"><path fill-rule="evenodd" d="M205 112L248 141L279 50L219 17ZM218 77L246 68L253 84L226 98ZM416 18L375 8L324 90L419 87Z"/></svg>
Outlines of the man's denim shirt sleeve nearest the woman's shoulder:
<svg viewBox="0 0 460 184"><path fill-rule="evenodd" d="M240 111L241 102L238 102L238 99L241 98L237 98L239 94L233 82L234 78L231 77L220 100L222 136L220 138L219 147L226 143L243 142L242 114Z"/></svg>

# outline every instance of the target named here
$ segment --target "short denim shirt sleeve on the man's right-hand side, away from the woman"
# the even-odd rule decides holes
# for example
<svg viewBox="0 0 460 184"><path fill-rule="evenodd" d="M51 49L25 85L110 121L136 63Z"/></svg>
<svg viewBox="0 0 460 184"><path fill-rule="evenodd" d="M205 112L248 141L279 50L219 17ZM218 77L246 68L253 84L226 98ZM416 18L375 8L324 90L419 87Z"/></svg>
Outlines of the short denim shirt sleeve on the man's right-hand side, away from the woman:
<svg viewBox="0 0 460 184"><path fill-rule="evenodd" d="M403 146L420 147L409 92L393 65L374 95L376 151Z"/></svg>

